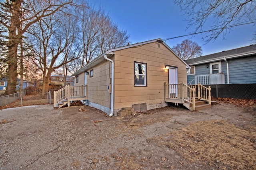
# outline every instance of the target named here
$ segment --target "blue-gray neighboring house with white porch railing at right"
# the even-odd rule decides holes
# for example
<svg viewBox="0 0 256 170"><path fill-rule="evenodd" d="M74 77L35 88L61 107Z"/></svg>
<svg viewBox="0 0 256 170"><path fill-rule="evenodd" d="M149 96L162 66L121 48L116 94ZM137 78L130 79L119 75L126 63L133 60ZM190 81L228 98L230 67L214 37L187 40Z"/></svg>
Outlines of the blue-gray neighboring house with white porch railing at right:
<svg viewBox="0 0 256 170"><path fill-rule="evenodd" d="M256 45L249 45L185 61L188 84L256 83Z"/></svg>

